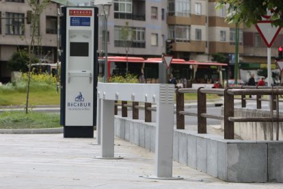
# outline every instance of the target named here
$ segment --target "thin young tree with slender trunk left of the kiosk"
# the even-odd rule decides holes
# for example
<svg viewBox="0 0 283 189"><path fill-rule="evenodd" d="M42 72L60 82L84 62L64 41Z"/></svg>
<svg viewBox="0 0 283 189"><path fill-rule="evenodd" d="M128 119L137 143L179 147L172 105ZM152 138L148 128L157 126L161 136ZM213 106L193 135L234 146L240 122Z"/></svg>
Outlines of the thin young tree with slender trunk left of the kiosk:
<svg viewBox="0 0 283 189"><path fill-rule="evenodd" d="M31 25L33 26L33 29L31 31L31 42L29 43L29 71L28 71L28 77L27 77L27 99L25 103L25 113L28 113L29 108L29 86L31 81L31 63L33 62L34 54L35 54L35 40L36 40L36 34L39 29L39 23L40 23L40 14L43 12L43 10L46 8L46 6L49 4L49 0L28 0L29 6L31 8ZM38 37L39 38L39 37Z"/></svg>

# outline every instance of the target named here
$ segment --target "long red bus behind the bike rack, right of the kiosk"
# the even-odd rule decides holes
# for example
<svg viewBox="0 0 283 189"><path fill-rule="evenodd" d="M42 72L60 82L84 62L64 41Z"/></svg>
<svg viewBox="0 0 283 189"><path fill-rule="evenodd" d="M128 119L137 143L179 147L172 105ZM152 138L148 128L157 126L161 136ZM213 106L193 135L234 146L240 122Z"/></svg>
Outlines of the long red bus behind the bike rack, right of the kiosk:
<svg viewBox="0 0 283 189"><path fill-rule="evenodd" d="M98 59L99 75L104 77L105 58ZM108 78L112 75L125 75L127 72L137 75L144 73L146 83L167 83L170 73L178 83L184 80L191 84L212 84L219 82L224 85L223 68L226 73L227 64L219 62L196 62L173 58L170 68L166 68L162 58L140 58L110 56L107 58Z"/></svg>

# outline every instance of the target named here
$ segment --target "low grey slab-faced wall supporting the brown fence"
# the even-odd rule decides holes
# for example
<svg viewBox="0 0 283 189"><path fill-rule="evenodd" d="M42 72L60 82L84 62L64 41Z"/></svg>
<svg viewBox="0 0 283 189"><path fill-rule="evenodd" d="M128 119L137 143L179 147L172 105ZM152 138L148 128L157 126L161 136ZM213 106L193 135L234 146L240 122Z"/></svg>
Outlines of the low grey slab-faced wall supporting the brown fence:
<svg viewBox="0 0 283 189"><path fill-rule="evenodd" d="M155 123L115 117L115 136L155 150ZM173 158L231 182L283 182L283 142L224 140L174 129Z"/></svg>

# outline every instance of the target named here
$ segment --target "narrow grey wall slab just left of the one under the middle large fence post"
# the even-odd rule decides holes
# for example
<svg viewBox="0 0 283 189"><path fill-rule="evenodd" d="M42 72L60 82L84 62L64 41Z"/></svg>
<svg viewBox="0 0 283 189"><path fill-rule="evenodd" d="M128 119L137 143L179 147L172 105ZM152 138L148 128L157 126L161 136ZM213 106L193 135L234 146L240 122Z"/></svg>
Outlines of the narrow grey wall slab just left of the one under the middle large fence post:
<svg viewBox="0 0 283 189"><path fill-rule="evenodd" d="M197 167L197 137L193 135L187 136L187 165L192 168Z"/></svg>

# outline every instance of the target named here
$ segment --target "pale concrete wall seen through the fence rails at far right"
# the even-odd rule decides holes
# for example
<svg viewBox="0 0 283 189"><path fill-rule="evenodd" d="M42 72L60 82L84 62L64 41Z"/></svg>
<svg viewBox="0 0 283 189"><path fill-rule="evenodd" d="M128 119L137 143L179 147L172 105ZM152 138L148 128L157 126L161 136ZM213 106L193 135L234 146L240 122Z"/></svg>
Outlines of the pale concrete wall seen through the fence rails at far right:
<svg viewBox="0 0 283 189"><path fill-rule="evenodd" d="M222 108L221 114L224 115ZM270 112L267 110L257 110L249 108L234 108L235 117L268 117ZM275 114L273 115L276 116ZM283 113L280 112L280 117ZM224 129L224 121L221 122ZM242 140L275 140L277 131L277 122L235 122L234 134ZM283 140L283 123L279 123L279 140Z"/></svg>

